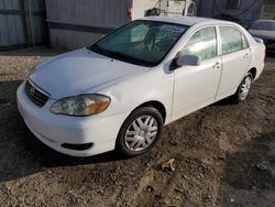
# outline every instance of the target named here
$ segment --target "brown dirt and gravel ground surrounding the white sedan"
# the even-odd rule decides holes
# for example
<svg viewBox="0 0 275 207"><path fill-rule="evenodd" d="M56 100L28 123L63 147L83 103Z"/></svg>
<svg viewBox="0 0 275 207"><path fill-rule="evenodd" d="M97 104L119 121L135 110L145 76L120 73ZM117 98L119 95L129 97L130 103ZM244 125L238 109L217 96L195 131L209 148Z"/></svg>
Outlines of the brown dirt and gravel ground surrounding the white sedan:
<svg viewBox="0 0 275 207"><path fill-rule="evenodd" d="M57 53L0 53L0 206L275 206L275 57L245 102L189 115L150 153L123 160L59 154L25 127L16 88ZM175 171L163 170L170 159Z"/></svg>

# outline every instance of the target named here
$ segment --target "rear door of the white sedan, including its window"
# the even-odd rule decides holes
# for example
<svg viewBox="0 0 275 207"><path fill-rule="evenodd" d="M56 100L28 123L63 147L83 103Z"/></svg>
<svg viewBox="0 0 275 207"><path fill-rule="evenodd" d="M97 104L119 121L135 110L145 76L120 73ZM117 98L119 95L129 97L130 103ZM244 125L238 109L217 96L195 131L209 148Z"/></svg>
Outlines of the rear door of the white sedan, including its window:
<svg viewBox="0 0 275 207"><path fill-rule="evenodd" d="M217 99L235 92L251 62L246 37L234 26L219 26L222 76Z"/></svg>

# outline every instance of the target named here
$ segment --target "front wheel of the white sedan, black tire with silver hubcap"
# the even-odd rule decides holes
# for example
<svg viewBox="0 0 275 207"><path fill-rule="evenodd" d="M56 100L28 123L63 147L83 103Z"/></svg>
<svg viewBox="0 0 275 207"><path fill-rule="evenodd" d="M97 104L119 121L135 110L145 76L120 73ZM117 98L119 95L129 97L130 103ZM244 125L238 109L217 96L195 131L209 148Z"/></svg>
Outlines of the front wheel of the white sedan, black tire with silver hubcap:
<svg viewBox="0 0 275 207"><path fill-rule="evenodd" d="M150 151L163 132L164 120L153 107L134 110L123 122L117 139L116 150L123 156L139 156Z"/></svg>

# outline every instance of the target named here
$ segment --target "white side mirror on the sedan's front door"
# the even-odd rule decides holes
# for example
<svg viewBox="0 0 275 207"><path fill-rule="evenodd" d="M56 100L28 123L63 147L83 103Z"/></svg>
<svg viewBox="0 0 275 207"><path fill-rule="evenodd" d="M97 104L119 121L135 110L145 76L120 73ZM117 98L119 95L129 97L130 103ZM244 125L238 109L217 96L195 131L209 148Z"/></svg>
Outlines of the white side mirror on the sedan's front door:
<svg viewBox="0 0 275 207"><path fill-rule="evenodd" d="M170 65L170 70L174 70L180 66L199 66L200 57L197 55L182 55L175 58Z"/></svg>

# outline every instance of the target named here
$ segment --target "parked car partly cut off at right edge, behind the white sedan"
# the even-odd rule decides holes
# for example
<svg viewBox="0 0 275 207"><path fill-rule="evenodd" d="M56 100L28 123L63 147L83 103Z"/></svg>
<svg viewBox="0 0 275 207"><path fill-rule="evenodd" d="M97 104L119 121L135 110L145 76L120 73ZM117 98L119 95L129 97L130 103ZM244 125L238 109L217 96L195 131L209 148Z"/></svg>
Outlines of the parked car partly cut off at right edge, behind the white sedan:
<svg viewBox="0 0 275 207"><path fill-rule="evenodd" d="M268 53L275 53L275 20L257 20L249 32L264 41Z"/></svg>

